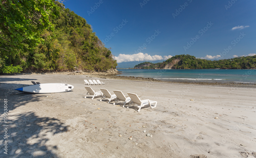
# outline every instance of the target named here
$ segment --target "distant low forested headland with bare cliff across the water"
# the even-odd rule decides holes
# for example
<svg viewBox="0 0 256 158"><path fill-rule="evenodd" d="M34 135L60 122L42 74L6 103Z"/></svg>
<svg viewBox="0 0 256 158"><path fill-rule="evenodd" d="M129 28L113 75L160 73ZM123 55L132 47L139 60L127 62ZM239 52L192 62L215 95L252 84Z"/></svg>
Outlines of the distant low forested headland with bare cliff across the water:
<svg viewBox="0 0 256 158"><path fill-rule="evenodd" d="M175 55L162 63L144 62L134 66L135 69L255 69L256 55L211 61L198 59L192 55Z"/></svg>

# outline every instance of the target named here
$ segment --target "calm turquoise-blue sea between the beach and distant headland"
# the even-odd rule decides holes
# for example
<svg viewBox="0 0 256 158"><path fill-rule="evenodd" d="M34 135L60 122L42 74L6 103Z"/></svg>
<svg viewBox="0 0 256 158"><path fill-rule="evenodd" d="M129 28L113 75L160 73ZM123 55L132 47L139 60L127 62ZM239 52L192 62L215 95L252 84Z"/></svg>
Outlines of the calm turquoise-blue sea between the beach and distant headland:
<svg viewBox="0 0 256 158"><path fill-rule="evenodd" d="M256 83L256 70L224 69L117 69L122 74L116 76L134 76L154 78L165 81L187 82L241 82Z"/></svg>

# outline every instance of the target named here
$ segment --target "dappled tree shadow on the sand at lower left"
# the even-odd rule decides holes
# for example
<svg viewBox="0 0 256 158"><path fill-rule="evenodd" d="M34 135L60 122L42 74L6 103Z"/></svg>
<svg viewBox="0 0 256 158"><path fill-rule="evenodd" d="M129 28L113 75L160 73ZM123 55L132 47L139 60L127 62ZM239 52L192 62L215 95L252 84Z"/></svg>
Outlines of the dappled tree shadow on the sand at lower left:
<svg viewBox="0 0 256 158"><path fill-rule="evenodd" d="M57 118L37 116L36 112L29 109L29 106L21 112L16 110L16 114L12 114L14 112L12 110L20 106L26 106L29 102L40 102L39 97L42 95L21 93L10 88L10 85L7 87L1 86L1 90L0 98L2 98L1 103L3 105L0 106L1 116L4 119L4 109L6 109L4 108L4 99L7 99L8 118L6 122L2 120L0 157L58 157L55 154L57 146L53 145L56 144L56 140L55 142L51 141L54 140L53 137L56 135L66 132L69 126L63 125L61 120ZM8 133L7 138L4 137L6 131ZM8 154L4 153L6 140Z"/></svg>

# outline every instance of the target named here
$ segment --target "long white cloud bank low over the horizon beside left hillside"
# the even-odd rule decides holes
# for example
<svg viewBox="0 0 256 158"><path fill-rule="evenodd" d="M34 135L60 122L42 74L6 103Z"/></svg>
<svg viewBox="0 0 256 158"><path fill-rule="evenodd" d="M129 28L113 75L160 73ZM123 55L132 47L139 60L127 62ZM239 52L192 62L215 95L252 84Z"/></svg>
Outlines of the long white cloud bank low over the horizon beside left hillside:
<svg viewBox="0 0 256 158"><path fill-rule="evenodd" d="M118 56L113 57L117 63L122 62L132 62L132 61L156 61L156 60L167 60L172 58L172 55L164 55L164 58L161 55L149 55L147 53L137 53L137 54L119 54Z"/></svg>

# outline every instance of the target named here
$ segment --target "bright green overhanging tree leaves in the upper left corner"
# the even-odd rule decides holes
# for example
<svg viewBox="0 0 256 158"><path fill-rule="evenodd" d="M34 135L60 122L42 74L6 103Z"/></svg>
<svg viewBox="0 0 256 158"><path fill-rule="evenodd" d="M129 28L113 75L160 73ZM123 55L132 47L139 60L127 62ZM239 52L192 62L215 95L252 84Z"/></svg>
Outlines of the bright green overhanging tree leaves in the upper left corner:
<svg viewBox="0 0 256 158"><path fill-rule="evenodd" d="M0 1L0 48L6 51L34 47L43 30L54 30L49 18L58 15L54 0Z"/></svg>

